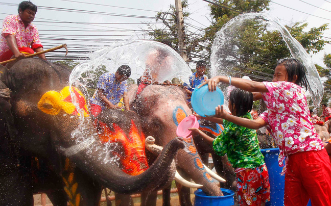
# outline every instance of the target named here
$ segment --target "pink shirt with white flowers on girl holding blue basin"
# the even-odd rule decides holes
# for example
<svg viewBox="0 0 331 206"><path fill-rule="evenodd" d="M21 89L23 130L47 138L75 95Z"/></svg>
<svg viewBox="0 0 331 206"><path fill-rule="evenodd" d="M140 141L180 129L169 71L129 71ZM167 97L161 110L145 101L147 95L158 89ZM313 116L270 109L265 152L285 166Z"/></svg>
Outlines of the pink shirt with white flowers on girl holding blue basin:
<svg viewBox="0 0 331 206"><path fill-rule="evenodd" d="M268 124L280 152L279 166L289 155L324 148L313 126L304 90L291 82L263 82L269 92L262 93L268 111L260 117ZM287 162L287 160L286 160ZM282 174L286 171L286 164Z"/></svg>

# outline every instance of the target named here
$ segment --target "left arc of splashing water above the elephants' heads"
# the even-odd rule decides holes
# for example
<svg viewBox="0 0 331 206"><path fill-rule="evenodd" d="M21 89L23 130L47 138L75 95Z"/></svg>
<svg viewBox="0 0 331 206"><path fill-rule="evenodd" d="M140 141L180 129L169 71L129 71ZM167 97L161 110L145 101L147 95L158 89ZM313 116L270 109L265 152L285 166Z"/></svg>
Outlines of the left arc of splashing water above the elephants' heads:
<svg viewBox="0 0 331 206"><path fill-rule="evenodd" d="M184 60L166 44L146 40L130 40L126 42L114 43L111 46L105 46L90 54L90 60L77 65L69 77L70 87L78 88L85 96L87 104L91 98L99 76L103 73L115 73L121 65L128 65L131 68L130 78L135 80L148 70L152 82L162 83L178 78L188 83L188 77L192 75L190 67ZM72 92L72 91L70 91ZM84 131L88 131L87 123L91 123L89 118L84 117L82 109L75 94L71 93L73 104L81 114L81 123L72 133L76 143L89 141L90 138L98 139L98 134L93 137L87 137ZM85 135L84 135L85 134ZM99 160L119 163L119 157L113 156L112 151L116 149L114 143L106 143L104 152ZM91 148L92 150L92 148Z"/></svg>

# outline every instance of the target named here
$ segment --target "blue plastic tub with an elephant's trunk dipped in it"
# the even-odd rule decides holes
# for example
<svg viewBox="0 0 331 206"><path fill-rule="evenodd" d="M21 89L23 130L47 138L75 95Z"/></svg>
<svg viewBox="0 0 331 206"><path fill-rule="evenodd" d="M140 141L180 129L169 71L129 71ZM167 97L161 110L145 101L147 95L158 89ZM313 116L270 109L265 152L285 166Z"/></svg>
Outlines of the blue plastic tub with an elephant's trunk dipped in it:
<svg viewBox="0 0 331 206"><path fill-rule="evenodd" d="M224 196L207 196L201 189L194 192L195 206L230 206L234 204L234 192L221 188Z"/></svg>

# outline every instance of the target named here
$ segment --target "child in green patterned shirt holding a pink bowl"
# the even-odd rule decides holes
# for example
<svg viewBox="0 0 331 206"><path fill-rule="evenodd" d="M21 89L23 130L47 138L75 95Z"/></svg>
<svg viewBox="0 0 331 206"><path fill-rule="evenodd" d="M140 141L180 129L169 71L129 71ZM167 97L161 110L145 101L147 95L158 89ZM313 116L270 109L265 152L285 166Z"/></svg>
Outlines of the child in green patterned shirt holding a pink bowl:
<svg viewBox="0 0 331 206"><path fill-rule="evenodd" d="M249 113L253 107L253 94L235 88L229 97L229 110L232 115L252 119ZM264 157L259 150L256 131L216 117L201 117L216 123L223 123L224 131L216 139L198 128L190 128L214 147L220 156L227 154L237 175L238 199L240 205L265 205L270 201L269 175Z"/></svg>

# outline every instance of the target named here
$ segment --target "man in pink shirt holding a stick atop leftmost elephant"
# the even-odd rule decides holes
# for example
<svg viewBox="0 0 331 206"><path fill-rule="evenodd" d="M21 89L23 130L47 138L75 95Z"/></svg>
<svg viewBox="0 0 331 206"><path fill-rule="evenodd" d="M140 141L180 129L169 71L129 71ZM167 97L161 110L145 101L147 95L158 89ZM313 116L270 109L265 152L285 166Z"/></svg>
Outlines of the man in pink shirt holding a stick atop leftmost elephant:
<svg viewBox="0 0 331 206"><path fill-rule="evenodd" d="M18 15L7 16L3 21L0 37L0 62L13 59L25 58L26 55L42 51L39 33L34 24L37 6L24 1L18 6ZM45 55L39 55L44 59Z"/></svg>

